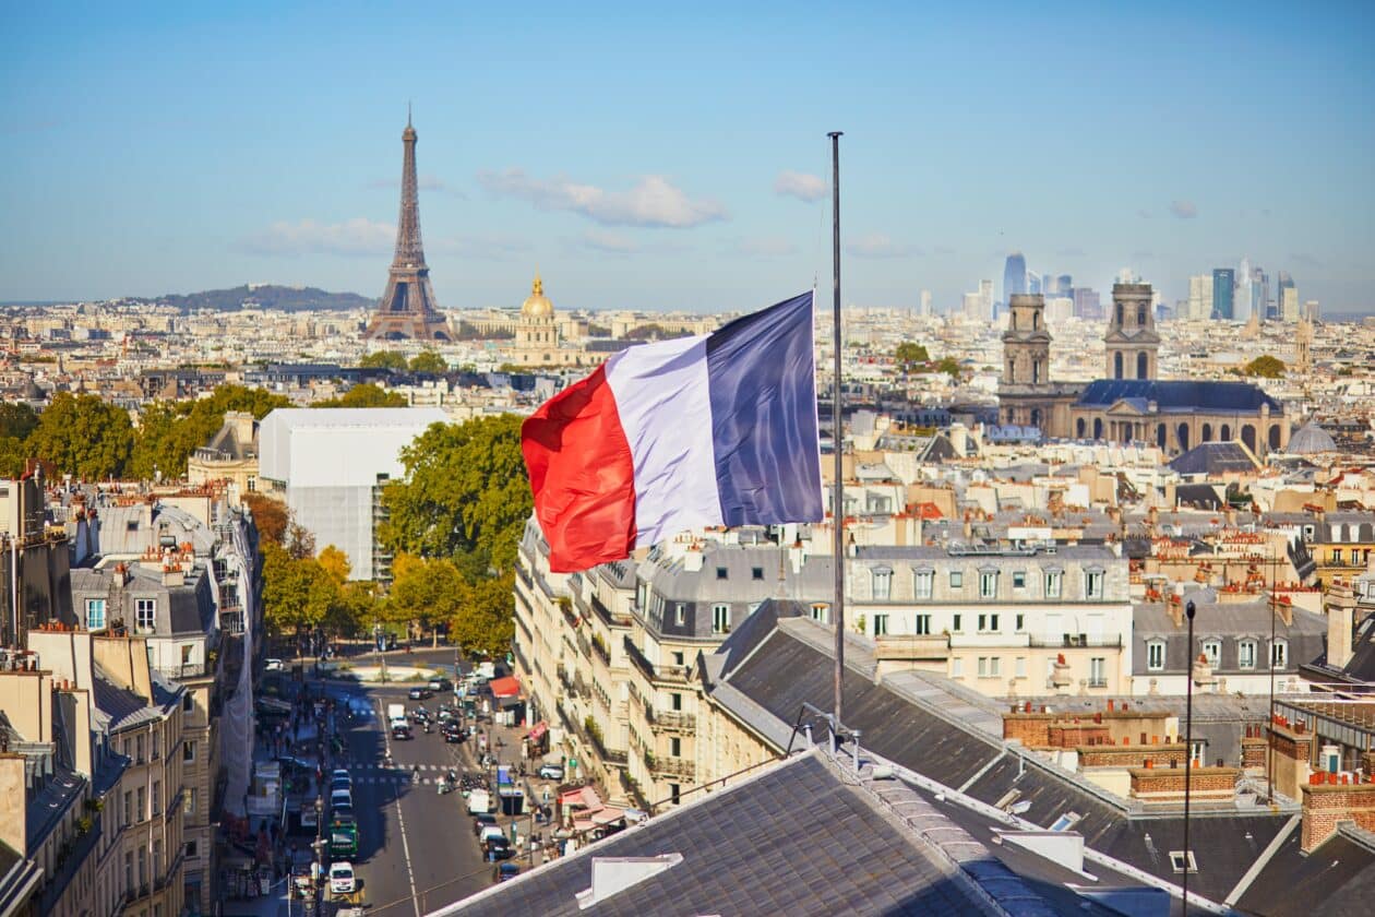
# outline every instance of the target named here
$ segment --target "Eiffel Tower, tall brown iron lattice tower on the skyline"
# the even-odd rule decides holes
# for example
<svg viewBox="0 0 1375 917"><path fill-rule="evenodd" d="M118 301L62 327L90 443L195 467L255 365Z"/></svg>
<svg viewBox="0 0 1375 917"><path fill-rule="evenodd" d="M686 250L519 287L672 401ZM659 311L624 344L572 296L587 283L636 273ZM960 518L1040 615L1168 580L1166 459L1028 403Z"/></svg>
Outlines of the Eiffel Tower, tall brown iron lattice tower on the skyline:
<svg viewBox="0 0 1375 917"><path fill-rule="evenodd" d="M396 224L396 256L386 275L386 293L363 331L366 341L451 341L452 329L440 315L421 243L421 210L415 186L415 128L410 111L402 132L402 216Z"/></svg>

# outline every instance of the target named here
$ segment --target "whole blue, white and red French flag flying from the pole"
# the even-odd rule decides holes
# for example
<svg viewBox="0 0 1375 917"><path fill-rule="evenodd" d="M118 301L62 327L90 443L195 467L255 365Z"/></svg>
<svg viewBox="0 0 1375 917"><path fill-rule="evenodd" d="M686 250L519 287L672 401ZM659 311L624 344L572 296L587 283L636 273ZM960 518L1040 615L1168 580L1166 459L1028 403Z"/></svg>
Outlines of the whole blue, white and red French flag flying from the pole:
<svg viewBox="0 0 1375 917"><path fill-rule="evenodd" d="M813 294L622 351L521 426L549 566L707 525L821 518Z"/></svg>

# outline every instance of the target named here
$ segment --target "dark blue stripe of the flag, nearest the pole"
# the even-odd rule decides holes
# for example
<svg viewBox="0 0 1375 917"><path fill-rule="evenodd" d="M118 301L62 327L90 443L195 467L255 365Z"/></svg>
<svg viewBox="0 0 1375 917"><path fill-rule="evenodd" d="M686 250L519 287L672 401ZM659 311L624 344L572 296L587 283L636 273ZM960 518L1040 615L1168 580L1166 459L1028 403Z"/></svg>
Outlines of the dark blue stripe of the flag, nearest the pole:
<svg viewBox="0 0 1375 917"><path fill-rule="evenodd" d="M707 338L716 488L726 525L821 518L811 297L803 293L736 319Z"/></svg>

